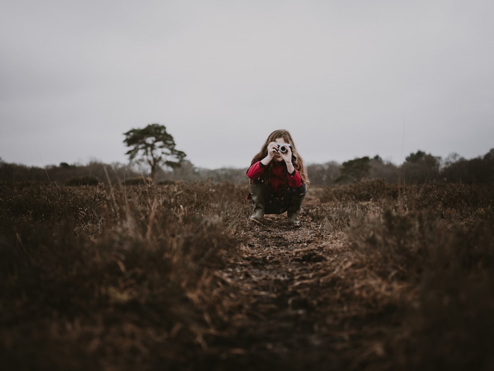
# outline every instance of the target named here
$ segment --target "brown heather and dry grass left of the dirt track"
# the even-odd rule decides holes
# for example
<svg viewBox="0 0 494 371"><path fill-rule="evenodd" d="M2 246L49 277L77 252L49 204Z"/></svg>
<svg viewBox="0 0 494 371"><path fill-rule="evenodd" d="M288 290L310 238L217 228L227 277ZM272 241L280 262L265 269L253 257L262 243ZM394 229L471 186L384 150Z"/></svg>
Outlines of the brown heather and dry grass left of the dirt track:
<svg viewBox="0 0 494 371"><path fill-rule="evenodd" d="M0 358L18 370L192 359L210 328L214 270L243 238L230 218L241 194L0 184Z"/></svg>

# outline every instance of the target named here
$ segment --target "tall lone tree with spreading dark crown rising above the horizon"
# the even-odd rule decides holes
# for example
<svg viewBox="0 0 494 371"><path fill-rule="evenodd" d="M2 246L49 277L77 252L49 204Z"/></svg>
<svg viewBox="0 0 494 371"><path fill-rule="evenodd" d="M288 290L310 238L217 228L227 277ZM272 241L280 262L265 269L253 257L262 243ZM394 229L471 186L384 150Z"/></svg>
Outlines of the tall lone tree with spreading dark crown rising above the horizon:
<svg viewBox="0 0 494 371"><path fill-rule="evenodd" d="M180 166L186 156L185 152L175 149L175 140L164 125L149 124L144 129L131 129L124 136L124 143L130 147L125 154L130 161L148 164L153 180L161 165L174 169Z"/></svg>

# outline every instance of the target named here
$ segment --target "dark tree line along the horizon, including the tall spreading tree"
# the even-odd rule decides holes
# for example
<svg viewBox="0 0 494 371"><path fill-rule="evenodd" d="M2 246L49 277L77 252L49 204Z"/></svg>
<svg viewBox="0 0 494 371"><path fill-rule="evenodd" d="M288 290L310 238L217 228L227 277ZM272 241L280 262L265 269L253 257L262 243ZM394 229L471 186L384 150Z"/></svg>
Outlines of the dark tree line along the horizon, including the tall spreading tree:
<svg viewBox="0 0 494 371"><path fill-rule="evenodd" d="M5 163L0 159L0 181L56 182L68 185L98 183L135 184L167 182L247 182L245 169L197 168L176 148L173 137L160 124L124 133L129 147L128 164L70 165L66 162L45 168ZM379 155L364 156L342 164L331 161L309 164L312 185L356 183L363 179L383 179L390 184L489 183L494 182L494 148L484 156L465 159L453 153L443 160L422 150L411 153L401 165L384 161Z"/></svg>

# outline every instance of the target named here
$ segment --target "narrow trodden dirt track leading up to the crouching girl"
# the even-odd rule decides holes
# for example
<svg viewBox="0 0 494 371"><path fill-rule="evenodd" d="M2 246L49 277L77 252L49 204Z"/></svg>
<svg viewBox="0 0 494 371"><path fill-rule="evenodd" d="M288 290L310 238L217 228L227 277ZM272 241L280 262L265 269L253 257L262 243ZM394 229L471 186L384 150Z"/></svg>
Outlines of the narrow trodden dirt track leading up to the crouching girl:
<svg viewBox="0 0 494 371"><path fill-rule="evenodd" d="M309 208L316 201L308 198ZM328 345L336 349L348 340L328 325L331 293L323 293L320 284L331 263L328 248L334 237L313 223L309 213L302 212L299 219L299 227L288 226L286 215L267 215L262 225L251 225L240 260L222 272L235 287L230 296L241 307L225 357L244 357L246 368L336 366L338 357L327 353Z"/></svg>

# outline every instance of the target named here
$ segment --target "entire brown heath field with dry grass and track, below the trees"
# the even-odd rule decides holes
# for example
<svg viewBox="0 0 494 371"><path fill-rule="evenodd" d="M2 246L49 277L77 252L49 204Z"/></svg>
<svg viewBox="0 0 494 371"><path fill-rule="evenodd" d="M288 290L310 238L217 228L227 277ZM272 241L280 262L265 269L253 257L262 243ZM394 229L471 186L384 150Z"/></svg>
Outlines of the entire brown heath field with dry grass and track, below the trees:
<svg viewBox="0 0 494 371"><path fill-rule="evenodd" d="M1 370L493 370L493 185L0 184Z"/></svg>

